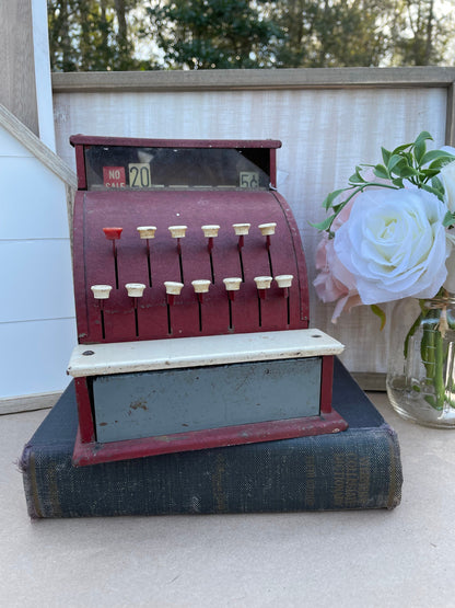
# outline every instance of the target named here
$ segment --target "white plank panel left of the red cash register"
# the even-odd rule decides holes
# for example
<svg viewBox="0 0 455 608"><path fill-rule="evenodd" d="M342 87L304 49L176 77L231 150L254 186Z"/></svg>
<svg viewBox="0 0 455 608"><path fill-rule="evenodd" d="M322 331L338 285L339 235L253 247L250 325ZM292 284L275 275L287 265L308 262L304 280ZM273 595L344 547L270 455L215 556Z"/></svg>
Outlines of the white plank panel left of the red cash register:
<svg viewBox="0 0 455 608"><path fill-rule="evenodd" d="M61 391L77 340L66 184L1 122L0 292L1 413Z"/></svg>

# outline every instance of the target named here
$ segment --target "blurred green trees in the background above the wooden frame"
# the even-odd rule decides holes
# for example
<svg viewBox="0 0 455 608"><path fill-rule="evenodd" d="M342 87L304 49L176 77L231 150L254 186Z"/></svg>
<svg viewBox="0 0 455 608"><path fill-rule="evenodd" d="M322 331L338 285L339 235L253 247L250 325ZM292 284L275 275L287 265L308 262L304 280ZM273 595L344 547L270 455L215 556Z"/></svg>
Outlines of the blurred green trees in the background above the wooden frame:
<svg viewBox="0 0 455 608"><path fill-rule="evenodd" d="M48 0L48 15L52 70L453 64L455 11L434 0Z"/></svg>

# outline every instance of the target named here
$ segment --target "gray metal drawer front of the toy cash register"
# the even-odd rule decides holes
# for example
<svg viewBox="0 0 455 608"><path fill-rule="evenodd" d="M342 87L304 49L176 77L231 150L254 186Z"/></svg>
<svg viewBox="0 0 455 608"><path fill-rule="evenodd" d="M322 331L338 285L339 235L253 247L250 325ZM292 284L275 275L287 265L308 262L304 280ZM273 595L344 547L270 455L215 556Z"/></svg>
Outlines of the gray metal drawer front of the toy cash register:
<svg viewBox="0 0 455 608"><path fill-rule="evenodd" d="M97 376L100 443L319 414L322 358Z"/></svg>

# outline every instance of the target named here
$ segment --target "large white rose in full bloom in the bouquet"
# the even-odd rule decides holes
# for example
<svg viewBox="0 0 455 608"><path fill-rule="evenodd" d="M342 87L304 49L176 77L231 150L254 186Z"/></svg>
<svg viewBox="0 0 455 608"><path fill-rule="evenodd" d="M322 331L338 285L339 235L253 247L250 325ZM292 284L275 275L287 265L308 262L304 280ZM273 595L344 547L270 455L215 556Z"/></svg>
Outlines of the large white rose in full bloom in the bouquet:
<svg viewBox="0 0 455 608"><path fill-rule="evenodd" d="M371 190L355 198L335 236L335 251L354 275L363 303L431 298L444 283L451 245L446 207L422 190Z"/></svg>

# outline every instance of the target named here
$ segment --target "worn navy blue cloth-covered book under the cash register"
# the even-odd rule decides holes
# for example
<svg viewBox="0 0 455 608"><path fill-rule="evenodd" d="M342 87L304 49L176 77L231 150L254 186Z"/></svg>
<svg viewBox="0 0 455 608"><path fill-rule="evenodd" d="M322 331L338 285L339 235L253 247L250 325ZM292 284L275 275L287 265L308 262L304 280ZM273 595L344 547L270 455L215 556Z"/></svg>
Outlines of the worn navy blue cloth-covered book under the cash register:
<svg viewBox="0 0 455 608"><path fill-rule="evenodd" d="M22 454L28 514L394 508L402 483L397 435L338 360L334 408L349 424L342 433L73 467L71 383Z"/></svg>

